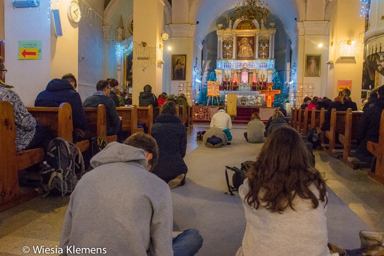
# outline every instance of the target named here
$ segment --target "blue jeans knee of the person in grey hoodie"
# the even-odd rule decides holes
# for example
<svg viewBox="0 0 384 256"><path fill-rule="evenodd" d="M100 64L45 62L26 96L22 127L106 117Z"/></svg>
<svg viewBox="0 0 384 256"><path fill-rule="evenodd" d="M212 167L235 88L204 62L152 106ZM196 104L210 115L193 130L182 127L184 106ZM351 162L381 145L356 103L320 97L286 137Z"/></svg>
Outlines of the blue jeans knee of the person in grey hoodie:
<svg viewBox="0 0 384 256"><path fill-rule="evenodd" d="M199 230L186 229L179 236L172 239L172 249L174 256L192 256L195 255L203 246L203 238Z"/></svg>

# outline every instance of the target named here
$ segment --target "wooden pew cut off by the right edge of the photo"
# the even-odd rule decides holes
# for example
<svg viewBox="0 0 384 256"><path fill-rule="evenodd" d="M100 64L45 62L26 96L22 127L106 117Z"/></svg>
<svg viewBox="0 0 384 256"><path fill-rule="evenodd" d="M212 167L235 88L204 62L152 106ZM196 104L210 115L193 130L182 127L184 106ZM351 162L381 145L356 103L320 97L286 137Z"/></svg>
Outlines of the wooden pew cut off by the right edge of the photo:
<svg viewBox="0 0 384 256"><path fill-rule="evenodd" d="M384 110L381 112L380 118L379 141L377 143L368 141L367 149L376 156L375 172L368 172L368 175L372 179L384 184Z"/></svg>

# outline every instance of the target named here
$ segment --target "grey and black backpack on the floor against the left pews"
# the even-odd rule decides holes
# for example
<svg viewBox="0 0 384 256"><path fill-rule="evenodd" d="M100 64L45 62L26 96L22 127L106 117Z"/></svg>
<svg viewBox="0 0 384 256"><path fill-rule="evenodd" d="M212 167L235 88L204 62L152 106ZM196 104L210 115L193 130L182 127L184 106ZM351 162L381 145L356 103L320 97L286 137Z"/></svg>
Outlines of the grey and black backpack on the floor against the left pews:
<svg viewBox="0 0 384 256"><path fill-rule="evenodd" d="M78 152L78 155L76 155ZM79 178L84 173L84 160L79 148L63 138L49 142L44 158L44 168L40 170L41 186L47 196L51 191L62 197L72 193Z"/></svg>

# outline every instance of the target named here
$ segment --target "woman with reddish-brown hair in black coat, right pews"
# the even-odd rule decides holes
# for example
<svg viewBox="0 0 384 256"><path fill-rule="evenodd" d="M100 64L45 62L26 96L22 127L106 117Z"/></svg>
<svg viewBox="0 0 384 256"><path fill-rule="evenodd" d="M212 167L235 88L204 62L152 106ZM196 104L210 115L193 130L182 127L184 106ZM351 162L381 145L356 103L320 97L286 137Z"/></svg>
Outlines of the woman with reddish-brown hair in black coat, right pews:
<svg viewBox="0 0 384 256"><path fill-rule="evenodd" d="M352 101L350 96L351 91L349 89L344 89L343 91L340 91L339 96L335 99L335 101L329 104L327 112L325 113L323 126L321 127L322 131L329 131L329 129L331 129L332 109L336 109L336 111L347 111L347 109L357 111L357 105Z"/></svg>

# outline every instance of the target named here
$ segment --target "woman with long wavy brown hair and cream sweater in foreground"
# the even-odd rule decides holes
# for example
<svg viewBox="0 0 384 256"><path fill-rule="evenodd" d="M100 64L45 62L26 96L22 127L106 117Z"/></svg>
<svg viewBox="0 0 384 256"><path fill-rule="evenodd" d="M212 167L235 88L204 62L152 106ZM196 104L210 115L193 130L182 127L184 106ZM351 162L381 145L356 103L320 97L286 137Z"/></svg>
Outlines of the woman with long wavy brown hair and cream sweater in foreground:
<svg viewBox="0 0 384 256"><path fill-rule="evenodd" d="M300 135L268 136L239 189L247 222L237 255L329 255L326 184Z"/></svg>

